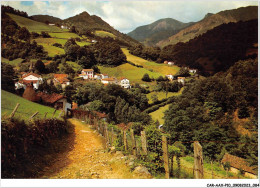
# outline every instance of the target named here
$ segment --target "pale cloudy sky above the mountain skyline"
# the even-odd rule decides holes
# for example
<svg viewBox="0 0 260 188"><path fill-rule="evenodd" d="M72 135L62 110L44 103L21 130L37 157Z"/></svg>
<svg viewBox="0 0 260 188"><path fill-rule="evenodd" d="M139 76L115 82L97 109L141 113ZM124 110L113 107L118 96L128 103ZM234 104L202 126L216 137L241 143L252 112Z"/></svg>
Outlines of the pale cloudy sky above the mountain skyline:
<svg viewBox="0 0 260 188"><path fill-rule="evenodd" d="M109 0L109 1L1 1L28 13L50 15L61 19L83 11L97 15L115 29L128 33L138 26L147 25L162 18L174 18L181 22L196 22L207 13L258 5L258 1L206 1L206 0Z"/></svg>

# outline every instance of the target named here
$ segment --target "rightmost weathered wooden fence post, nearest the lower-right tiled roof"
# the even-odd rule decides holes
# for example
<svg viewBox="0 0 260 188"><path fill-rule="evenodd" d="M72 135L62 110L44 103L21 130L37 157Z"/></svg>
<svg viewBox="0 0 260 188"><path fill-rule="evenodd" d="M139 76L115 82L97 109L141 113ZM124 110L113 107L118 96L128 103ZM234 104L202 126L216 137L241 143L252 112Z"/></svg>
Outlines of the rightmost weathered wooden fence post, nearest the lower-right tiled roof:
<svg viewBox="0 0 260 188"><path fill-rule="evenodd" d="M194 175L195 179L204 178L202 146L198 141L194 142Z"/></svg>

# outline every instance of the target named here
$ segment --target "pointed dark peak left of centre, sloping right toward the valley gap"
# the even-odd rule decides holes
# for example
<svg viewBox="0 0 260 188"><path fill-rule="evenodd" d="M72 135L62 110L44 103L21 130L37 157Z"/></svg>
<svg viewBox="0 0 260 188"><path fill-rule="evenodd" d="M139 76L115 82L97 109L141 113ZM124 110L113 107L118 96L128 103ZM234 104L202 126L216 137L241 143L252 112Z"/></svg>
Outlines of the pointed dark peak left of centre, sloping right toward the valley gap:
<svg viewBox="0 0 260 188"><path fill-rule="evenodd" d="M140 44L138 41L132 39L126 34L123 34L117 31L116 29L114 29L112 26L110 26L107 22L102 20L100 17L96 15L89 15L86 11L76 16L63 20L62 24L65 24L69 27L75 26L76 30L78 30L81 33L84 33L86 31L91 31L91 32L106 31L115 35L116 36L115 38L125 45Z"/></svg>

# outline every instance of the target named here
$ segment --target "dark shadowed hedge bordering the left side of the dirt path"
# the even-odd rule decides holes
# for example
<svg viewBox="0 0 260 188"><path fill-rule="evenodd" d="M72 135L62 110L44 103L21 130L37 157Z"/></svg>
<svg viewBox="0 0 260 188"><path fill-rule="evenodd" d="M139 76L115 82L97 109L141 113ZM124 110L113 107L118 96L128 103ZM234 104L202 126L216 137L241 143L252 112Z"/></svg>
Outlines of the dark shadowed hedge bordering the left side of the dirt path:
<svg viewBox="0 0 260 188"><path fill-rule="evenodd" d="M52 139L61 138L69 131L67 122L58 119L36 120L29 124L8 119L1 123L2 178L23 178L24 162L32 163L35 150L49 148Z"/></svg>

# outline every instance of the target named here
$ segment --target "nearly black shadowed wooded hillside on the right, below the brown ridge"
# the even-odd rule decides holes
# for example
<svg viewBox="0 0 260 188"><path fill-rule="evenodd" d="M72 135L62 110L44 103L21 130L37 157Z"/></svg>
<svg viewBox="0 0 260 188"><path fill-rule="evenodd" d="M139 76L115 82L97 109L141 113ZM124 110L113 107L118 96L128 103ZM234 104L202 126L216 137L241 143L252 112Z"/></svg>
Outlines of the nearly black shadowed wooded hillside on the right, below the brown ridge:
<svg viewBox="0 0 260 188"><path fill-rule="evenodd" d="M254 19L222 24L186 43L165 46L160 58L210 75L227 70L239 60L257 56L258 19Z"/></svg>

